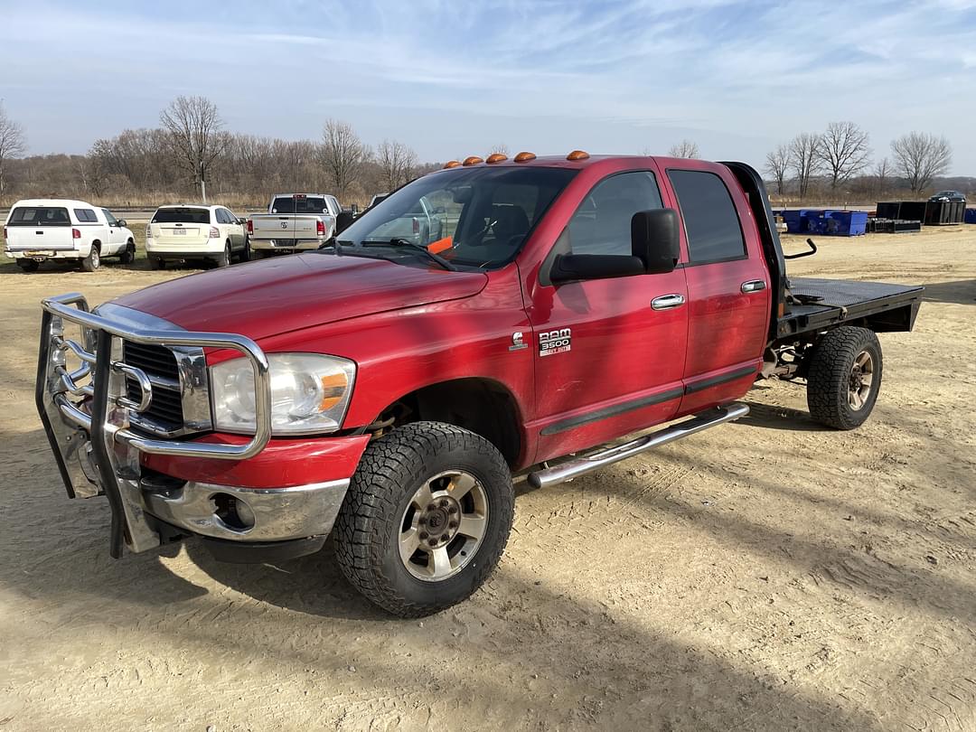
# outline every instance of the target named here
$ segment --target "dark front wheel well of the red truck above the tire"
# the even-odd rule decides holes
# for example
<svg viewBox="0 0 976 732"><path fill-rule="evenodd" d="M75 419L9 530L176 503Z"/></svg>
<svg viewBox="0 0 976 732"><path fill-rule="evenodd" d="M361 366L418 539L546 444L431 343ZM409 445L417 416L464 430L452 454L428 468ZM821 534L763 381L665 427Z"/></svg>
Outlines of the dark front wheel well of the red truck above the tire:
<svg viewBox="0 0 976 732"><path fill-rule="evenodd" d="M386 407L366 431L382 434L420 421L444 422L480 434L498 448L509 466L521 455L515 398L506 386L490 379L457 379L411 391Z"/></svg>

